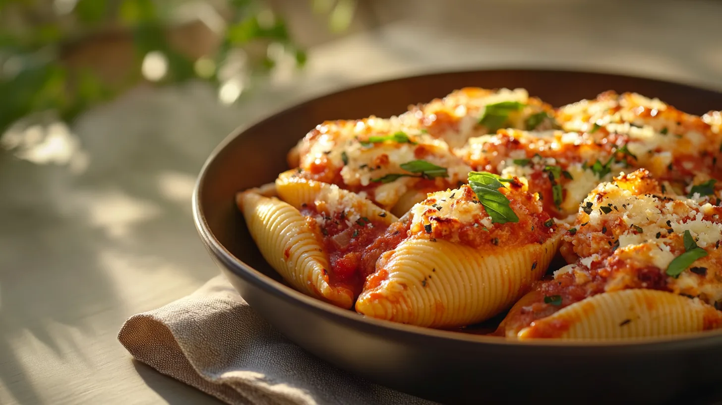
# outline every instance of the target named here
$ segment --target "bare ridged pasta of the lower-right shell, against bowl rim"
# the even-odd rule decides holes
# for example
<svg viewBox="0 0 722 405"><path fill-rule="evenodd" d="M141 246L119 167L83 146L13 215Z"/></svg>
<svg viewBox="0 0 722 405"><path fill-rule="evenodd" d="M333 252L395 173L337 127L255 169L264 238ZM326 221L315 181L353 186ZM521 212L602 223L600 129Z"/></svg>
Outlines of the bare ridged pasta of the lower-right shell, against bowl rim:
<svg viewBox="0 0 722 405"><path fill-rule="evenodd" d="M693 333L722 326L722 312L667 291L627 289L594 295L519 331L531 338L629 339ZM546 331L545 331L546 330Z"/></svg>

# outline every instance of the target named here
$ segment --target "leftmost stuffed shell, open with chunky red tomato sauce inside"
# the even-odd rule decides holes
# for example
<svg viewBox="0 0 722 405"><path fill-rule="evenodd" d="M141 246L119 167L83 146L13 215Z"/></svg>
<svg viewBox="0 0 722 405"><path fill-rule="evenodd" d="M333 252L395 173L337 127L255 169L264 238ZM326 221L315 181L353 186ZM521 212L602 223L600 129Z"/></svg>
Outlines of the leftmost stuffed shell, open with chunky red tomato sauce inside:
<svg viewBox="0 0 722 405"><path fill-rule="evenodd" d="M334 184L289 171L277 197L258 189L238 194L253 240L266 261L295 289L351 308L371 270L363 250L398 218Z"/></svg>

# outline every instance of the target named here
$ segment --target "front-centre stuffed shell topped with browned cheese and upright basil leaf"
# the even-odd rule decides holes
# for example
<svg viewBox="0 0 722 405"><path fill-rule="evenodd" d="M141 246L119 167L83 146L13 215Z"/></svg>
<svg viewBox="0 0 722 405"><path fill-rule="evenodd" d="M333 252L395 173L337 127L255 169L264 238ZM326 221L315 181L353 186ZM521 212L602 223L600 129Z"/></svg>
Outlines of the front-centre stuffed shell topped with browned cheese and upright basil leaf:
<svg viewBox="0 0 722 405"><path fill-rule="evenodd" d="M391 239L393 249L378 258L356 310L431 328L477 323L508 308L541 278L561 238L518 179L487 173L428 195L404 225L403 234L378 240Z"/></svg>

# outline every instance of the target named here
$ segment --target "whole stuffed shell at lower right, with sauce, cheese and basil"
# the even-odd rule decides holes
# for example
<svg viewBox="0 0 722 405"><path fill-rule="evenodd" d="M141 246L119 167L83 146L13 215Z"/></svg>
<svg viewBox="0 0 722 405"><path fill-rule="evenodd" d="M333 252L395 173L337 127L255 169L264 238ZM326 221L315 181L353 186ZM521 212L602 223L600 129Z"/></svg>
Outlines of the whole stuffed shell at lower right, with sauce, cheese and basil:
<svg viewBox="0 0 722 405"><path fill-rule="evenodd" d="M665 194L648 171L580 205L562 242L571 263L510 310L508 338L642 338L722 326L722 208Z"/></svg>

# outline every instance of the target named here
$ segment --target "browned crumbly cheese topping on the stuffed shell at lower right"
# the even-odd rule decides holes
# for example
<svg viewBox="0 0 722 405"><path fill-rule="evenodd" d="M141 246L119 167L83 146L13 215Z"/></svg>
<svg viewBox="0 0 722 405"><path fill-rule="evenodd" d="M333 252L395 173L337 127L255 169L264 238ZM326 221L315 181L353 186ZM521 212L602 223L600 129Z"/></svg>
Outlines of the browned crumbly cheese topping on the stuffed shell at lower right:
<svg viewBox="0 0 722 405"><path fill-rule="evenodd" d="M631 268L658 268L664 273L675 257L684 252L682 236L685 231L695 239L697 246L709 256L695 262L705 266L706 261L717 260L722 240L722 208L709 203L700 205L684 196L663 196L660 187L645 171L619 176L614 182L600 184L588 195L580 207L575 226L583 231L565 236L575 252L580 254L579 265L586 268L604 257L617 257ZM602 210L605 208L605 210ZM583 209L591 210L586 213ZM605 212L607 211L607 212ZM711 216L711 218L710 218ZM581 227L581 223L585 223ZM617 239L617 249L609 250L606 244ZM711 253L710 253L711 252ZM713 267L714 266L714 267ZM710 265L711 276L701 278L687 268L679 278L668 278L668 286L679 294L700 296L706 302L722 299L722 269ZM613 273L606 291L626 288L631 273ZM722 280L722 278L720 278ZM700 295L701 294L701 295Z"/></svg>

